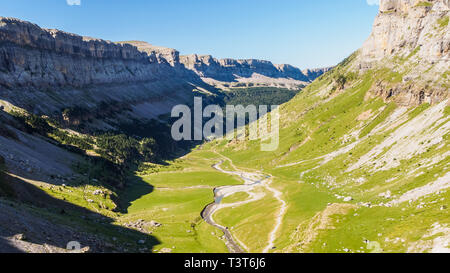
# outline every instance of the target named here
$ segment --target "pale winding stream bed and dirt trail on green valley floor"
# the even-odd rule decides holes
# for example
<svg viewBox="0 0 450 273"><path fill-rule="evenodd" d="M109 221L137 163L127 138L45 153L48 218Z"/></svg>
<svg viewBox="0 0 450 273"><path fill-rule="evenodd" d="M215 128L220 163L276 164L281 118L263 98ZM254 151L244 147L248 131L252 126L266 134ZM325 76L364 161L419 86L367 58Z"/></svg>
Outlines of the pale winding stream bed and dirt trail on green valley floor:
<svg viewBox="0 0 450 273"><path fill-rule="evenodd" d="M220 155L220 156L222 156L222 155ZM267 176L267 175L264 175L259 172L240 171L233 165L233 162L229 158L226 158L224 156L222 156L222 157L225 158L226 160L228 160L231 163L231 166L236 171L223 170L221 168L223 161L214 165L213 168L222 173L225 173L225 174L239 176L242 180L244 180L244 184L237 185L237 186L224 186L224 187L216 188L214 190L215 202L208 205L205 208L205 210L202 212L202 217L203 217L203 219L205 219L205 221L207 223L221 229L224 232L226 244L231 252L243 253L244 250L242 249L242 247L248 251L249 248L244 243L242 243L240 241L236 242L237 239L233 238L230 230L227 227L223 227L214 221L213 215L217 211L224 209L224 208L239 207L239 206L242 206L245 204L259 201L259 200L263 199L266 196L266 194L264 192L257 192L255 190L258 187L267 189L268 191L272 192L273 196L281 203L281 208L280 208L279 212L277 213L277 216L275 219L275 222L276 222L275 227L270 232L269 238L268 238L268 240L269 240L268 245L263 250L264 253L267 253L271 249L273 249L275 246L274 242L276 240L276 235L281 227L283 216L286 213L287 203L281 198L282 193L270 186L270 184L272 183L271 176ZM239 202L234 202L234 203L227 203L227 204L221 203L223 198L225 198L227 196L231 196L231 195L233 195L235 193L239 193L239 192L245 192L245 193L249 194L250 198L245 201L239 201Z"/></svg>

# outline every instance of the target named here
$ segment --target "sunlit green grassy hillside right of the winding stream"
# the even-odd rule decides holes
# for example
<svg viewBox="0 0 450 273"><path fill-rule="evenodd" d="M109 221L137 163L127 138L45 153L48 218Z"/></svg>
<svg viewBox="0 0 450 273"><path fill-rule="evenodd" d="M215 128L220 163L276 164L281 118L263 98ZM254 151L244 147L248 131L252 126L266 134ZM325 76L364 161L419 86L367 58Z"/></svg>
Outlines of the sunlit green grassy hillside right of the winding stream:
<svg viewBox="0 0 450 273"><path fill-rule="evenodd" d="M430 252L448 247L449 107L399 106L373 96L395 84L386 69L357 73L356 54L281 106L280 147L217 140L240 169L273 176L288 209L273 252ZM202 156L201 154L196 157ZM188 155L187 158L190 158ZM219 158L216 159L217 161ZM230 163L224 169L232 169ZM164 179L155 174L154 181ZM197 173L195 179L207 180ZM264 191L264 189L260 189ZM224 202L248 199L248 194ZM261 252L280 204L266 197L214 216L250 252Z"/></svg>

